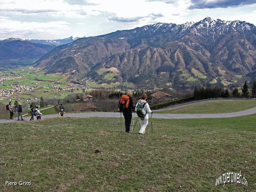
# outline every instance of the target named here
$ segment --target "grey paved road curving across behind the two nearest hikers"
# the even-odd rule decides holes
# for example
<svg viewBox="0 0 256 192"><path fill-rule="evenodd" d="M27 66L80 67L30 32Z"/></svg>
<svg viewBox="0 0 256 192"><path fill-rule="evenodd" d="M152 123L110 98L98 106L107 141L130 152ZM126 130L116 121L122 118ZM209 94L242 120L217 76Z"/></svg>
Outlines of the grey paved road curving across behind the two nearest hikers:
<svg viewBox="0 0 256 192"><path fill-rule="evenodd" d="M226 118L226 117L240 117L244 115L251 115L256 113L256 107L247 109L244 111L232 112L232 113L217 113L217 114L153 114L153 118L160 119L194 119L194 118ZM133 113L134 115L134 113ZM87 113L66 113L64 117L58 114L54 115L43 115L42 119L53 118L53 117L120 117L120 113L114 112L87 112ZM123 117L123 115L122 115ZM30 117L24 117L25 120L29 120ZM1 119L0 123L17 122L18 118Z"/></svg>

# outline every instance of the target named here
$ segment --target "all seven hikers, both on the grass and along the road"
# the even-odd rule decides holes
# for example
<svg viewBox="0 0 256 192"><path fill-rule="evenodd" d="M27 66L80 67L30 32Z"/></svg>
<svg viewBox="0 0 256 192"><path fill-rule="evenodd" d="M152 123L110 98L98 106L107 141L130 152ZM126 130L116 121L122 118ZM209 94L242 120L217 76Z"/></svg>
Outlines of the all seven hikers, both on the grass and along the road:
<svg viewBox="0 0 256 192"><path fill-rule="evenodd" d="M136 103L136 106L133 106L133 92L128 92L127 95L122 95L122 98L119 100L119 110L121 113L123 113L123 116L125 118L125 132L130 132L130 126L131 126L131 119L132 119L132 111L134 110L139 118L140 121L140 131L139 134L144 134L146 127L148 125L148 114L152 114L152 111L147 103L147 95L142 94L141 99ZM10 119L13 119L13 106L12 102L9 102L9 105L6 105L6 109L10 111ZM61 104L59 109L61 117L63 117L63 114L65 113L65 109L63 105ZM21 121L24 121L22 117L22 105L19 103L18 107L16 108L16 113L18 113L18 121L21 118ZM39 111L39 107L36 106L36 109L33 110L33 106L30 105L30 107L27 109L28 114L31 115L30 121L34 120L34 116L36 116L36 120L40 120L42 117L42 113ZM134 122L134 121L133 121ZM136 121L137 123L137 121Z"/></svg>

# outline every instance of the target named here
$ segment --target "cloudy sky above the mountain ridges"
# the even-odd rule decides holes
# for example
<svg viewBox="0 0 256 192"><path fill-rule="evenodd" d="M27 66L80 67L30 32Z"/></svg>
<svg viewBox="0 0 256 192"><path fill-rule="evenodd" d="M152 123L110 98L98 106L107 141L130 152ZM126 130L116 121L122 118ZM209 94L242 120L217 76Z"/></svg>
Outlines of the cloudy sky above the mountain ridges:
<svg viewBox="0 0 256 192"><path fill-rule="evenodd" d="M206 17L256 25L256 0L0 0L0 39L88 37Z"/></svg>

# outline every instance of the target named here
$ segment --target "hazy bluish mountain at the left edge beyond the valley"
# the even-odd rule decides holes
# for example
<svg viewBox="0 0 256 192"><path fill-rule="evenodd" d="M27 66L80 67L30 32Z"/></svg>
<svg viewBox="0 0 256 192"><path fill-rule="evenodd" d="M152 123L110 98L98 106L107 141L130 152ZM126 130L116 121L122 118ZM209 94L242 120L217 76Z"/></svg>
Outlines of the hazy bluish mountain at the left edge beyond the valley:
<svg viewBox="0 0 256 192"><path fill-rule="evenodd" d="M32 64L56 45L45 45L25 41L20 38L8 38L0 41L0 66Z"/></svg>

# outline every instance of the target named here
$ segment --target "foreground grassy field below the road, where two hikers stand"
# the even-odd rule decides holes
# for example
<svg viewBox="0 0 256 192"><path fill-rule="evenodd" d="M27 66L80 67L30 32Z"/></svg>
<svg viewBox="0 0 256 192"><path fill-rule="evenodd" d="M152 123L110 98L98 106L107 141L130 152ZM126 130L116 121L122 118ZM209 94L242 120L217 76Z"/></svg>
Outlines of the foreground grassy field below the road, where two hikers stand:
<svg viewBox="0 0 256 192"><path fill-rule="evenodd" d="M256 115L154 119L145 135L119 118L53 118L1 124L1 191L253 191ZM123 129L124 131L124 129ZM248 186L215 186L240 172ZM4 181L31 182L5 186Z"/></svg>

